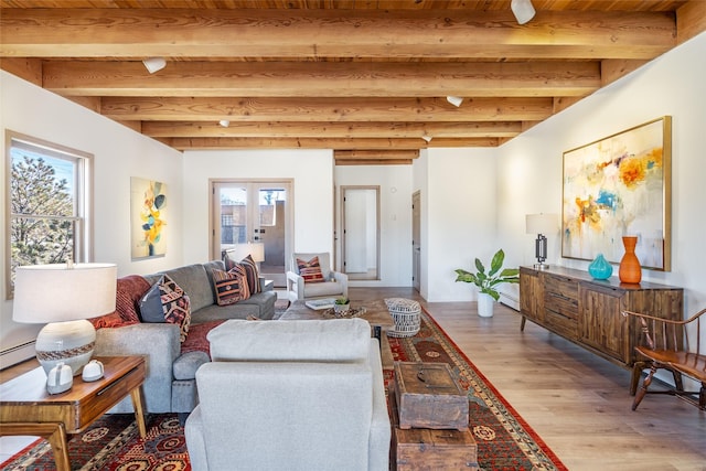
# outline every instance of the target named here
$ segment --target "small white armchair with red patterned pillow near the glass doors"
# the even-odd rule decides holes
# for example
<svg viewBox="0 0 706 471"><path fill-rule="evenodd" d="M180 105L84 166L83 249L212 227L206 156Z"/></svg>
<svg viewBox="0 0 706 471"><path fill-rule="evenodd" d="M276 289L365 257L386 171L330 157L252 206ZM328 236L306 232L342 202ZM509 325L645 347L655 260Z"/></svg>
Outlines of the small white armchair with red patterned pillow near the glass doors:
<svg viewBox="0 0 706 471"><path fill-rule="evenodd" d="M314 257L319 261L321 278L315 275ZM306 266L303 270L301 269L302 266ZM331 269L331 257L328 251L292 254L291 269L287 271L287 291L289 299L292 301L311 298L347 297L349 276Z"/></svg>

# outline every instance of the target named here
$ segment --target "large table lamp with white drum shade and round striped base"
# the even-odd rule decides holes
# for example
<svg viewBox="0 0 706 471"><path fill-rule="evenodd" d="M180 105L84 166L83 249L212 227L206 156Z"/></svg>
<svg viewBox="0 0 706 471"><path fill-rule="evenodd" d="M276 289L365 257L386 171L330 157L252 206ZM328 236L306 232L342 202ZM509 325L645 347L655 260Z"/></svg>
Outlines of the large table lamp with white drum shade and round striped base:
<svg viewBox="0 0 706 471"><path fill-rule="evenodd" d="M45 323L35 350L44 371L57 363L77 375L90 361L96 330L86 319L115 311L117 267L113 264L53 264L18 267L12 319Z"/></svg>

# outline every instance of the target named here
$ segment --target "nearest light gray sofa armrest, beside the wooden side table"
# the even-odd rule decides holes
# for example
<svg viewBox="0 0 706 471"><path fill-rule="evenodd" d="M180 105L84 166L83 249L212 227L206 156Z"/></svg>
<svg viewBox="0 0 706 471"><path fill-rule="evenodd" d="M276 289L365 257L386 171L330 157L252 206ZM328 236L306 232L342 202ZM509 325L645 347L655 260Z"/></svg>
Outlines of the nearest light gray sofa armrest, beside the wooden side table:
<svg viewBox="0 0 706 471"><path fill-rule="evenodd" d="M142 385L148 413L169 413L172 402L172 365L180 354L179 327L171 323L140 323L96 331L96 356L142 355L147 376ZM114 413L132 411L121 402Z"/></svg>

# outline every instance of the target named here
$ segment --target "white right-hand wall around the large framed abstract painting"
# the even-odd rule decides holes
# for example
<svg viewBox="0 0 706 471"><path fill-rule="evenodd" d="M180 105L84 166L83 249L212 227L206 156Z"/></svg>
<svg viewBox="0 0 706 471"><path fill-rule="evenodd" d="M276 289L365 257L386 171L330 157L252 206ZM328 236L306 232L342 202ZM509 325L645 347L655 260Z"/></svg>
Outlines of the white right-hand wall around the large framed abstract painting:
<svg viewBox="0 0 706 471"><path fill-rule="evenodd" d="M685 288L685 311L706 307L706 33L537 125L499 150L499 239L514 265L534 263L528 213L561 213L563 152L665 115L672 116L672 271L643 279ZM560 258L557 234L550 264ZM614 271L617 272L617 270Z"/></svg>

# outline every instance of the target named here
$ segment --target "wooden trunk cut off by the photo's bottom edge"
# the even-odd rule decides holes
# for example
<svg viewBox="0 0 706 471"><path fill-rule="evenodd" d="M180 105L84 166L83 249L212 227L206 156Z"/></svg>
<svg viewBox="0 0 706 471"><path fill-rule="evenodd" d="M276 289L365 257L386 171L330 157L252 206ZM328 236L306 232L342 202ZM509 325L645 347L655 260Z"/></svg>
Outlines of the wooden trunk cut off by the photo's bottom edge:
<svg viewBox="0 0 706 471"><path fill-rule="evenodd" d="M471 430L410 428L400 429L397 404L389 396L393 443L392 469L413 470L479 470L478 446Z"/></svg>

